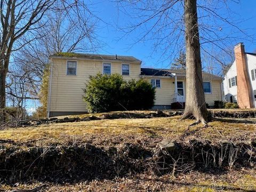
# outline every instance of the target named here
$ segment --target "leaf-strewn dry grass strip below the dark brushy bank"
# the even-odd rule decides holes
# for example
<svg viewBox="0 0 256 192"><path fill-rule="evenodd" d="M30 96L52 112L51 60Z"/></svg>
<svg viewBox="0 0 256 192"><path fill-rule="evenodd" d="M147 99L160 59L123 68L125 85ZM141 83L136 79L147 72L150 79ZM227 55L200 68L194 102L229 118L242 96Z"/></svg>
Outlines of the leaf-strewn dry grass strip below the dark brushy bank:
<svg viewBox="0 0 256 192"><path fill-rule="evenodd" d="M45 191L255 191L255 170L230 171L221 175L191 171L176 177L139 174L129 178L94 180L78 183L49 183ZM15 186L2 185L0 190L31 189L42 183L17 183Z"/></svg>

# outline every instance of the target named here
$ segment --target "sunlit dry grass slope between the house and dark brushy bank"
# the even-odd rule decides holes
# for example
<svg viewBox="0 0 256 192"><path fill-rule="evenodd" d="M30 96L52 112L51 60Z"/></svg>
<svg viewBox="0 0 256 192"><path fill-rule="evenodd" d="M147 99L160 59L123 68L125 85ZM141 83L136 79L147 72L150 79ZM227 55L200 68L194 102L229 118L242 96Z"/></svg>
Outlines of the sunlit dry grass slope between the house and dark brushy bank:
<svg viewBox="0 0 256 192"><path fill-rule="evenodd" d="M136 137L160 137L163 139L177 140L185 133L189 124L194 120L180 121L180 116L161 117L149 119L104 119L100 121L44 124L39 126L21 127L0 131L0 138L15 142L29 142L43 140L45 143L61 142L63 137L122 137L135 135ZM212 141L250 140L255 137L256 125L242 123L210 122L210 127L203 128L197 125L190 128L193 134L189 139L200 138ZM103 138L102 138L103 139Z"/></svg>

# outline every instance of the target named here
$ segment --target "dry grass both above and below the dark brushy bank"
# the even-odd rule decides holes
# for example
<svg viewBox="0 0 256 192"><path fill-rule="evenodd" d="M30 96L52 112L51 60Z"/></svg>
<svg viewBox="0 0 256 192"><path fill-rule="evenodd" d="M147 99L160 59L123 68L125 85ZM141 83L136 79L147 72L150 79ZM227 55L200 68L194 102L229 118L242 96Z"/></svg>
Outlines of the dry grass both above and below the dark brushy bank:
<svg viewBox="0 0 256 192"><path fill-rule="evenodd" d="M194 120L180 121L180 116L145 118L145 119L104 119L75 123L44 124L18 129L0 131L1 140L13 140L10 145L49 146L52 143L91 142L99 145L118 145L118 141L142 143L146 147L155 147L160 140L179 140ZM256 125L243 123L210 122L209 127L197 125L190 128L187 139L201 139L218 142L232 140L249 142L256 136ZM145 139L146 138L146 139ZM141 139L145 139L144 142ZM146 143L147 142L147 143ZM29 143L29 145L28 145ZM9 145L9 144L8 144ZM79 181L74 183L49 183L45 191L220 191L232 188L255 191L255 169L231 170L221 174L190 171L178 175L166 174L156 176L151 173L140 173L127 178L113 180ZM1 180L0 180L1 184ZM31 189L42 183L33 181L12 185L0 185L0 191L14 189ZM217 189L218 188L218 189ZM227 190L228 191L228 190Z"/></svg>

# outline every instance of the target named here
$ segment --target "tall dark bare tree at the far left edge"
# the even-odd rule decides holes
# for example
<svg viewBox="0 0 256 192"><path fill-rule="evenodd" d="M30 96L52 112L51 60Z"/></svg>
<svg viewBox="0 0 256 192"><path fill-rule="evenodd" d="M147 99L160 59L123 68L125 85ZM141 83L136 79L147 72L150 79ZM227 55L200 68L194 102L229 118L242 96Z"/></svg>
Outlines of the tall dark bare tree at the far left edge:
<svg viewBox="0 0 256 192"><path fill-rule="evenodd" d="M29 33L51 7L53 1L4 1L0 2L0 109L5 108L5 83L11 52L15 42Z"/></svg>

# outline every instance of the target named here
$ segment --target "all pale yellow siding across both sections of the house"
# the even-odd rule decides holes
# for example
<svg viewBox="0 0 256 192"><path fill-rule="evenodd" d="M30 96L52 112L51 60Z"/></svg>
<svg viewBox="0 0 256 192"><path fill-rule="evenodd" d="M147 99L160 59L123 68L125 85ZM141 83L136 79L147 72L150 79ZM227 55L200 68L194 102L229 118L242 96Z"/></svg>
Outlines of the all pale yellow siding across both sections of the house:
<svg viewBox="0 0 256 192"><path fill-rule="evenodd" d="M52 83L50 111L87 111L85 102L82 99L83 88L89 80L90 75L102 73L102 61L77 60L77 75L66 75L67 59L52 58ZM111 73L121 74L122 62L111 62ZM123 76L124 79L139 79L140 64L130 63L130 76ZM145 77L149 82L149 77ZM157 78L157 77L156 77ZM183 81L186 95L186 81ZM211 81L212 93L205 94L206 102L213 106L214 100L221 100L220 81ZM161 88L156 89L155 105L171 105L174 94L174 78L161 78ZM50 92L49 92L50 97ZM50 101L50 100L48 100Z"/></svg>

